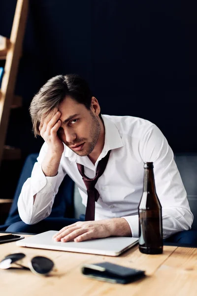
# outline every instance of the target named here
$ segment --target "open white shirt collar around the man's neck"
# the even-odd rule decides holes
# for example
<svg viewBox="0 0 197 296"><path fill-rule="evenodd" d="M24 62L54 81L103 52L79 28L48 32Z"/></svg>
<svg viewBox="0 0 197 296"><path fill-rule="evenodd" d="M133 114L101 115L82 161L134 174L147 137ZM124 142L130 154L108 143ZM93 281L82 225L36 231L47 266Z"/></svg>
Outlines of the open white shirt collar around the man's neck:
<svg viewBox="0 0 197 296"><path fill-rule="evenodd" d="M102 149L102 152L99 156L99 159L104 157L109 150L116 149L123 147L123 141L121 139L120 133L118 131L118 128L116 127L115 123L112 122L110 119L108 119L108 115L102 115L102 120L104 123L105 128L105 141L104 141L104 147ZM65 149L65 156L69 158L70 161L76 161L77 159L80 159L80 163L83 162L82 158L87 158L87 156L79 156L74 151L72 151L70 148L66 146ZM88 158L89 160L89 158ZM78 161L77 161L78 162Z"/></svg>

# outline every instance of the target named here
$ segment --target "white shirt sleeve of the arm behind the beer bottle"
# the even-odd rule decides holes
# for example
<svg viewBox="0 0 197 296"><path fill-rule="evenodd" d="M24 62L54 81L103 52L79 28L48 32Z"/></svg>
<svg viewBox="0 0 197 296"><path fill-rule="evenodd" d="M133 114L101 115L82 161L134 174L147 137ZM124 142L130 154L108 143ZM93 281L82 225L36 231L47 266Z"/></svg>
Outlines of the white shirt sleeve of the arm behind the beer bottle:
<svg viewBox="0 0 197 296"><path fill-rule="evenodd" d="M172 149L156 125L146 131L140 141L139 150L144 162L153 162L156 192L162 205L164 238L191 229L194 217L185 187ZM138 237L138 215L124 218L130 224L132 236Z"/></svg>

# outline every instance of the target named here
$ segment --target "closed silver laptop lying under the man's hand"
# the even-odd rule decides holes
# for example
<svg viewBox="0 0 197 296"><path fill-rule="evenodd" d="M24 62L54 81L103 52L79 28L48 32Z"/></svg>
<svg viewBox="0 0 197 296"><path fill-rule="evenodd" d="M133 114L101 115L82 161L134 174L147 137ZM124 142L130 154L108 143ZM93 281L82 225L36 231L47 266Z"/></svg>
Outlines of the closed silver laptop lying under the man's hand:
<svg viewBox="0 0 197 296"><path fill-rule="evenodd" d="M111 236L78 243L73 241L56 242L53 239L53 235L57 232L58 231L54 230L42 232L40 234L36 234L17 241L16 244L21 247L38 249L119 256L138 243L138 238L124 236Z"/></svg>

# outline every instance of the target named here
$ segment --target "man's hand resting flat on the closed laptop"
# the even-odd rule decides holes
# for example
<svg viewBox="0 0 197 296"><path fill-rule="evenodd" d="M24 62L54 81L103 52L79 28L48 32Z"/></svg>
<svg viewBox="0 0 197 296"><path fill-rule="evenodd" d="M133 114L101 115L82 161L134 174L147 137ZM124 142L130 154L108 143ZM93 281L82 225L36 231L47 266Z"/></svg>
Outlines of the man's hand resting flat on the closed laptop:
<svg viewBox="0 0 197 296"><path fill-rule="evenodd" d="M129 223L124 218L76 222L62 228L53 238L62 242L81 242L108 236L131 236Z"/></svg>

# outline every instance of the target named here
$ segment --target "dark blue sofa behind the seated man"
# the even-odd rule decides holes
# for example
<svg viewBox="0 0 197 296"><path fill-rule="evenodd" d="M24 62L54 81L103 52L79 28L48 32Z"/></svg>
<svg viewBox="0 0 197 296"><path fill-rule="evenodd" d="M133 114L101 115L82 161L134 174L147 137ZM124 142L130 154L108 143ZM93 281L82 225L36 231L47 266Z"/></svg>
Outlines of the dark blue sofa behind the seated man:
<svg viewBox="0 0 197 296"><path fill-rule="evenodd" d="M5 229L12 223L21 221L18 214L17 201L24 182L31 176L33 165L37 156L37 153L30 154L25 161L9 215L4 225L0 225L0 231L5 231ZM191 210L194 214L192 228L197 229L197 153L176 153L174 158L181 174L183 184L185 185L186 191L188 193L188 200ZM69 178L69 176L66 176L56 195L52 212L49 217L78 218L75 215L76 204L74 204L73 200L74 189L76 191L76 187L74 187L74 182ZM77 207L79 207L79 203L80 201L78 200ZM85 208L81 206L79 209L81 214L84 214Z"/></svg>

